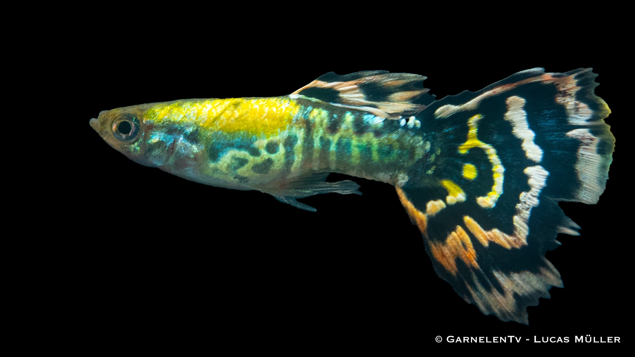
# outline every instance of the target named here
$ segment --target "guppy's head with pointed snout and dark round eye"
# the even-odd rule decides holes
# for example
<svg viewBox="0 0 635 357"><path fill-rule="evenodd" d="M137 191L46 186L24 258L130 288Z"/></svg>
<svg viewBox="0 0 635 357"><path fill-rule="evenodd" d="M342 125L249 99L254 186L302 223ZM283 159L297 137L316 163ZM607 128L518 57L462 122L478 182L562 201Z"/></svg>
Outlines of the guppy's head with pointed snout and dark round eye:
<svg viewBox="0 0 635 357"><path fill-rule="evenodd" d="M153 140L152 121L144 105L102 111L90 126L113 149L144 166L161 166L171 154L171 140ZM156 139L156 138L155 138Z"/></svg>

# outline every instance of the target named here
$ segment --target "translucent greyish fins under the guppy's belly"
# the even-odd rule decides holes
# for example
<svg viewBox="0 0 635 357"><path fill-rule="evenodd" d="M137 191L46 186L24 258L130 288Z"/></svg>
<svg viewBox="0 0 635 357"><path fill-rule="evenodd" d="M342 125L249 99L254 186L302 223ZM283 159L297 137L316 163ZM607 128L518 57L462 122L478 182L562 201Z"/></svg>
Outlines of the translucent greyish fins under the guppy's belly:
<svg viewBox="0 0 635 357"><path fill-rule="evenodd" d="M280 202L311 212L316 212L316 209L298 202L296 198L305 198L324 193L361 194L358 190L359 185L351 180L326 182L326 177L328 177L328 172L314 173L307 177L300 177L286 182L283 187L277 187L275 191L267 190L265 192L268 192Z"/></svg>

